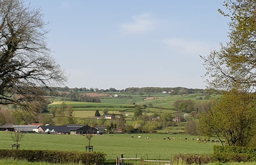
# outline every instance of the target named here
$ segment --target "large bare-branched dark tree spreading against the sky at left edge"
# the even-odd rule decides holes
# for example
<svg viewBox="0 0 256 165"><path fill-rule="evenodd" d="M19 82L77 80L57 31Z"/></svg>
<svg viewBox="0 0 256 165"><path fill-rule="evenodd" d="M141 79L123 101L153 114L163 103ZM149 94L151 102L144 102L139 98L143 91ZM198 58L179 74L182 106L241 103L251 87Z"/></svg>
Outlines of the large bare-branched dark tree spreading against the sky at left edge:
<svg viewBox="0 0 256 165"><path fill-rule="evenodd" d="M0 104L16 104L34 112L45 101L45 90L63 85L65 71L47 48L41 8L22 0L1 0Z"/></svg>

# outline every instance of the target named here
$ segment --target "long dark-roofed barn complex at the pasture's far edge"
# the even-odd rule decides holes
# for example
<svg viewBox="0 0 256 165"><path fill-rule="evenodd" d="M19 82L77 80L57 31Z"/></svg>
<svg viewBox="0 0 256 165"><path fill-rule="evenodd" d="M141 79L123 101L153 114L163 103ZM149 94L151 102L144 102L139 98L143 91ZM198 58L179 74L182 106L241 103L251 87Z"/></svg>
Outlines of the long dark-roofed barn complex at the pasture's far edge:
<svg viewBox="0 0 256 165"><path fill-rule="evenodd" d="M88 125L63 125L63 126L40 126L40 132L57 132L63 134L86 134L92 132L97 133L97 129Z"/></svg>

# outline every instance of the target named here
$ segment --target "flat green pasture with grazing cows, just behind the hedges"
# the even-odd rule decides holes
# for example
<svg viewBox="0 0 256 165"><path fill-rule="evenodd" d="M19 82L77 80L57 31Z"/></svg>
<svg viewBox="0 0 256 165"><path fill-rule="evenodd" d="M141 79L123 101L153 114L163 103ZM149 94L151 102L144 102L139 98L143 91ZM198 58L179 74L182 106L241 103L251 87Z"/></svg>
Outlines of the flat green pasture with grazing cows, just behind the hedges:
<svg viewBox="0 0 256 165"><path fill-rule="evenodd" d="M132 138L131 136L134 136ZM138 138L141 136L141 138ZM145 139L148 137L150 139ZM169 140L167 137L175 139ZM181 137L181 139L180 139ZM169 160L175 154L212 154L214 143L199 143L199 136L177 134L103 134L91 139L93 151L107 154L107 161L114 161L122 153L125 158L137 157ZM164 138L166 138L164 140ZM187 140L185 140L187 138ZM192 138L194 140L192 140ZM10 132L0 132L0 149L11 149L15 142ZM19 142L20 149L85 151L89 144L82 135L52 135L28 133ZM220 144L217 144L220 145Z"/></svg>

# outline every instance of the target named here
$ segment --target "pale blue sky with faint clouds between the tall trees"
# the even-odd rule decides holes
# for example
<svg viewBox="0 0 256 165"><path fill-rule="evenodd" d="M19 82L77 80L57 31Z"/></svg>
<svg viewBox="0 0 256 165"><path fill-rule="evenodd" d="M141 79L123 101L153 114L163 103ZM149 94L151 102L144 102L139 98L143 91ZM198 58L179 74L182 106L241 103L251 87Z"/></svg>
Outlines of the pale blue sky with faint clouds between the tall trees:
<svg viewBox="0 0 256 165"><path fill-rule="evenodd" d="M203 60L228 41L222 0L44 0L48 48L66 86L203 88Z"/></svg>

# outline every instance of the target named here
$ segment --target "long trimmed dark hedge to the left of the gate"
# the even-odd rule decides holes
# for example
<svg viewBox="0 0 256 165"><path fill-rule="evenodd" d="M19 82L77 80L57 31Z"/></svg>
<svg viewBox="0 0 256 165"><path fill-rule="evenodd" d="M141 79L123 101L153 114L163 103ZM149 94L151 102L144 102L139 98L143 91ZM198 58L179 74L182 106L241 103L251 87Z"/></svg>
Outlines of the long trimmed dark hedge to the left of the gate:
<svg viewBox="0 0 256 165"><path fill-rule="evenodd" d="M101 165L106 154L100 152L69 152L56 150L7 150L0 149L0 158L24 159L29 162L83 163Z"/></svg>

